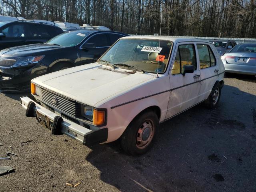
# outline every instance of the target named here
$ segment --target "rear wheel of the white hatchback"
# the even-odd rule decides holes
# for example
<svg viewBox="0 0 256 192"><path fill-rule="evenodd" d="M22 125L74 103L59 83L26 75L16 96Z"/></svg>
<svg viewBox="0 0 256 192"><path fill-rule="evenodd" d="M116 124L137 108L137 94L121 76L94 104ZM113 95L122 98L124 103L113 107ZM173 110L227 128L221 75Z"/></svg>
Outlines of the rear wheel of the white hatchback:
<svg viewBox="0 0 256 192"><path fill-rule="evenodd" d="M217 92L218 92L218 98L216 98ZM208 96L208 98L205 101L206 107L208 107L210 109L216 108L216 106L218 105L218 103L220 101L220 95L221 95L221 86L220 86L220 83L217 83L212 88L212 92L210 93L210 95Z"/></svg>

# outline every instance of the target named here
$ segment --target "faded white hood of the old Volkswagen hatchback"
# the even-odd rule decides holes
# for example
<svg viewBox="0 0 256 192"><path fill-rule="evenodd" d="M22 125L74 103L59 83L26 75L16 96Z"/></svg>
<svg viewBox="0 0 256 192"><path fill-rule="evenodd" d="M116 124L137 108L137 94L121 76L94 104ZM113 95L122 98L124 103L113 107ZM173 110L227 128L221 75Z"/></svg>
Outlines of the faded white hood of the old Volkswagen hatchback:
<svg viewBox="0 0 256 192"><path fill-rule="evenodd" d="M46 74L32 82L70 99L97 107L98 102L118 96L152 79L156 79L152 74L130 74L122 69L114 70L92 63Z"/></svg>

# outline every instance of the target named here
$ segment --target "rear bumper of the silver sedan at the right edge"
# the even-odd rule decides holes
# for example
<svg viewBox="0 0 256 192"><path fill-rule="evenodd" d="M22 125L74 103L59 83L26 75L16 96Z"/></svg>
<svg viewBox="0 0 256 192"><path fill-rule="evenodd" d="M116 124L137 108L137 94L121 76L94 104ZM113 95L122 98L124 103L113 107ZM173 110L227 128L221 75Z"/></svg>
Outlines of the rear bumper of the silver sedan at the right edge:
<svg viewBox="0 0 256 192"><path fill-rule="evenodd" d="M228 72L228 73L256 75L256 66L224 63L224 67L225 67L225 72Z"/></svg>

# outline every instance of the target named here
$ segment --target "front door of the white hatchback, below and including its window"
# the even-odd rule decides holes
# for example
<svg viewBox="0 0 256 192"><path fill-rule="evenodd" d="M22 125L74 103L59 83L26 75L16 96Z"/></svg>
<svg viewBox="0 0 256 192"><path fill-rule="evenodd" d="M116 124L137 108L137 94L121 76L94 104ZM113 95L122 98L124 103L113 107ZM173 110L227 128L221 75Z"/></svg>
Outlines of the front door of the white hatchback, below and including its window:
<svg viewBox="0 0 256 192"><path fill-rule="evenodd" d="M166 118L170 118L199 102L201 76L196 62L195 44L179 43L175 49L175 58L170 72L170 98ZM193 65L194 72L182 74L184 65Z"/></svg>

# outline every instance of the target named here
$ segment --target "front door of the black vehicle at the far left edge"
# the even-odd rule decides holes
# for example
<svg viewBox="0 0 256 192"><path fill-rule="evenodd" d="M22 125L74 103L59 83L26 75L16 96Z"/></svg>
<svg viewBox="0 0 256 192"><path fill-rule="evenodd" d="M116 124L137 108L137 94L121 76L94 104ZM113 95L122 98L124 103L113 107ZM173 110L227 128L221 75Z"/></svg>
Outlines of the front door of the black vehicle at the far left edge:
<svg viewBox="0 0 256 192"><path fill-rule="evenodd" d="M0 32L5 34L5 37L0 38L0 50L26 44L24 23L10 23L3 27Z"/></svg>

